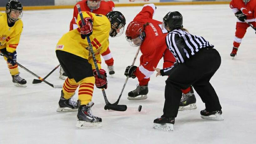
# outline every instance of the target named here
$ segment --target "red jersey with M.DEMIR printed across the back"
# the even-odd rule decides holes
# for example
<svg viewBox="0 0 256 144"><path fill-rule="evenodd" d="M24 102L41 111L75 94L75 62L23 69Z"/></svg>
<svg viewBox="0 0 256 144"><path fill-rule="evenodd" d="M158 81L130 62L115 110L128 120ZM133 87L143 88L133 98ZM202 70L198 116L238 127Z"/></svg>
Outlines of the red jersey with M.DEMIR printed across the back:
<svg viewBox="0 0 256 144"><path fill-rule="evenodd" d="M162 22L156 21L153 18L156 7L154 4L146 4L142 8L134 21L139 21L142 23L149 23L145 27L146 37L141 44L141 63L137 67L134 74L141 80L143 78L149 78L153 73L153 67L156 67L159 60L163 57L163 53L166 50L165 37L167 35L167 30L162 30Z"/></svg>

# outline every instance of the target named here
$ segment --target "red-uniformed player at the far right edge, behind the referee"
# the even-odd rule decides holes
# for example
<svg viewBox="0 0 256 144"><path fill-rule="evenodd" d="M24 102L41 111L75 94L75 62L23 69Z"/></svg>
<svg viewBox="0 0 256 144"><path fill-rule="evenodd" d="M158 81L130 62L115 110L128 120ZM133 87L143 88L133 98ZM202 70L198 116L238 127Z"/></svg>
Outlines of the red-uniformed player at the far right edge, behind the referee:
<svg viewBox="0 0 256 144"><path fill-rule="evenodd" d="M230 8L238 18L233 42L233 50L230 53L231 57L235 57L237 55L238 47L242 42L243 36L249 27L244 19L246 19L247 22L250 22L253 27L256 26L256 0L232 0L230 2Z"/></svg>

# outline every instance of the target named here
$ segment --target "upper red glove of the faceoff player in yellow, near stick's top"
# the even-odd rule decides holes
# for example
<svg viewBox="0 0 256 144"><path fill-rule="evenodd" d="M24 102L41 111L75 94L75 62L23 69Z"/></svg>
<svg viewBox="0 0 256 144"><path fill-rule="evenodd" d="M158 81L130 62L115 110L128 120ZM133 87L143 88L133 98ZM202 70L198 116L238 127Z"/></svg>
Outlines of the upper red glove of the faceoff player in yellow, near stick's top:
<svg viewBox="0 0 256 144"><path fill-rule="evenodd" d="M92 34L92 19L90 17L85 17L84 22L84 26L82 26L81 22L79 22L79 25L81 25L80 34L82 39L85 39L85 37L90 36Z"/></svg>

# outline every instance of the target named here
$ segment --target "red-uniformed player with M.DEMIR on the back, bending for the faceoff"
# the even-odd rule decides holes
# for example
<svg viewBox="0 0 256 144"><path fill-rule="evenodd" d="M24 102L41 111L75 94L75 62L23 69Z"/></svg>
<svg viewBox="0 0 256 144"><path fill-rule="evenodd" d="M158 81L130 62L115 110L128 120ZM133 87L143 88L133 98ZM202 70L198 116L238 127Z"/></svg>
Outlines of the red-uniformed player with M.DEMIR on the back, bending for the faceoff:
<svg viewBox="0 0 256 144"><path fill-rule="evenodd" d="M129 100L147 98L148 82L150 76L154 73L153 67L157 66L162 57L164 58L163 68L171 67L176 61L164 42L167 30L165 28L162 29L162 22L152 18L155 11L154 4L144 5L141 12L129 23L125 32L126 40L130 42L132 47L140 46L142 53L140 66L128 66L125 70L125 76L137 77L139 81L137 88L128 93ZM186 102L183 103L181 101L180 110L196 108L193 89L189 87L184 90L184 93L187 93L186 95L184 94L183 98L183 101Z"/></svg>

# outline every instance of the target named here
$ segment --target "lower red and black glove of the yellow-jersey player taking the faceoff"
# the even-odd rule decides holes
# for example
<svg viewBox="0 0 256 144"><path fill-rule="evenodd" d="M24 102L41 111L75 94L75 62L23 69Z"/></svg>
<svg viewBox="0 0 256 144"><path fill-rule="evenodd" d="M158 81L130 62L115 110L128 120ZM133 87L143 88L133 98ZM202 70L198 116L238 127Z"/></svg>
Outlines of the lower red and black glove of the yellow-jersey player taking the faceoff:
<svg viewBox="0 0 256 144"><path fill-rule="evenodd" d="M108 87L108 81L107 81L107 73L104 69L100 69L100 77L97 73L97 71L94 69L93 74L95 77L95 85L97 88L105 88L107 89Z"/></svg>

